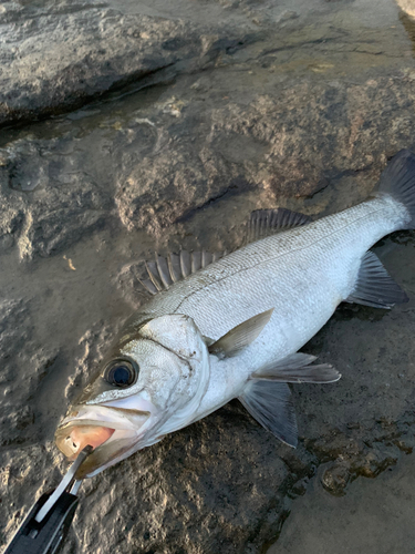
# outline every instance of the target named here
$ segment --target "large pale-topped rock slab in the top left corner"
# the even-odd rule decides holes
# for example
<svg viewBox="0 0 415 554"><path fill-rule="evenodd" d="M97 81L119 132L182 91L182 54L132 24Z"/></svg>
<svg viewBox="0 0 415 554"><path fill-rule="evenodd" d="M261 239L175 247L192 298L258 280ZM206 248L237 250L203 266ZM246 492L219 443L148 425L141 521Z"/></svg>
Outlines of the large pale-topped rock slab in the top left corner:
<svg viewBox="0 0 415 554"><path fill-rule="evenodd" d="M194 59L203 66L200 29L185 21L124 14L98 1L3 2L0 124L55 114L128 82Z"/></svg>

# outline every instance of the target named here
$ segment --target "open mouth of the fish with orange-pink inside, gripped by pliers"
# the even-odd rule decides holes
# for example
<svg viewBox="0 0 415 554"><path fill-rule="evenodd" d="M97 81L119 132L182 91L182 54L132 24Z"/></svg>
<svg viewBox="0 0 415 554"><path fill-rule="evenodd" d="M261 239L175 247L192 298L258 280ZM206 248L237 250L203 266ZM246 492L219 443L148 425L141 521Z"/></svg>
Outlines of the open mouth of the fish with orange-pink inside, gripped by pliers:
<svg viewBox="0 0 415 554"><path fill-rule="evenodd" d="M127 458L142 437L151 413L103 406L74 407L55 432L59 450L71 461L90 444L92 453L76 471L75 479L96 475Z"/></svg>

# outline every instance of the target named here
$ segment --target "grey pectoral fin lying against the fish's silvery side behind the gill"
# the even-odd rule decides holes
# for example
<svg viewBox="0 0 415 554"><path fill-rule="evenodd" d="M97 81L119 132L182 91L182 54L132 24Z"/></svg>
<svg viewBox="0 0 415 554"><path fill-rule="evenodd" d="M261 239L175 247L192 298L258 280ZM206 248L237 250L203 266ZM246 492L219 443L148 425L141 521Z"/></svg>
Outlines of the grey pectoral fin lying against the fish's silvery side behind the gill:
<svg viewBox="0 0 415 554"><path fill-rule="evenodd" d="M234 329L209 347L209 353L215 353L219 358L236 356L243 350L243 348L253 342L260 335L264 326L271 319L272 311L273 308L262 314L258 314L247 319L247 321L243 321L243 324L234 327Z"/></svg>

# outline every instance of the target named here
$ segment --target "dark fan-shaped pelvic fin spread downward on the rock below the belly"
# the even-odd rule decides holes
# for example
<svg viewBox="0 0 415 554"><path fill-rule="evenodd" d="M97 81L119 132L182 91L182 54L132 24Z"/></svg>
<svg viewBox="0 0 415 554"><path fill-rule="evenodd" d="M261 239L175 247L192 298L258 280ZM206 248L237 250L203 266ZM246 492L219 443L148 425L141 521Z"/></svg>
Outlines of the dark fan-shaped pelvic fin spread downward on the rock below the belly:
<svg viewBox="0 0 415 554"><path fill-rule="evenodd" d="M297 447L297 418L287 383L248 381L239 400L258 423L289 447Z"/></svg>

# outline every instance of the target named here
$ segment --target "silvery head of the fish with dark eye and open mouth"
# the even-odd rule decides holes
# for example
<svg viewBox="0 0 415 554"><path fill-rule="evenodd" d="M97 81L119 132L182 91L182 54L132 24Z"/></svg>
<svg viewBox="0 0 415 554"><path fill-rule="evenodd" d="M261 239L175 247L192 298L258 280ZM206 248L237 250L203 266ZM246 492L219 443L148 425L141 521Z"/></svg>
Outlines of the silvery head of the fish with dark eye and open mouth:
<svg viewBox="0 0 415 554"><path fill-rule="evenodd" d="M207 346L190 317L129 325L56 430L56 445L71 460L87 444L94 448L76 479L190 423L209 372Z"/></svg>

